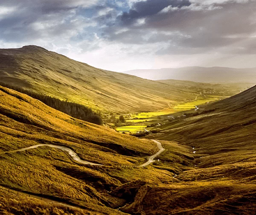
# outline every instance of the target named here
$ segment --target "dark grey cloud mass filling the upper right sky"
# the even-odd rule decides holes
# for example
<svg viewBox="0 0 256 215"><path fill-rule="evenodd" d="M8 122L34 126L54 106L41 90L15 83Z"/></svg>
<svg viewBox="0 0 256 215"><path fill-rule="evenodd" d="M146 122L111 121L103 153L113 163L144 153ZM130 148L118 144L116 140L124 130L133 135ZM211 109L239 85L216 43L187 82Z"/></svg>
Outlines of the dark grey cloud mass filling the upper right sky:
<svg viewBox="0 0 256 215"><path fill-rule="evenodd" d="M255 41L243 45L256 34L255 8L250 0L147 0L135 3L105 33L111 41L128 44L163 42L157 54L199 54L238 43L236 52L245 53L248 41ZM140 19L143 23L137 25Z"/></svg>

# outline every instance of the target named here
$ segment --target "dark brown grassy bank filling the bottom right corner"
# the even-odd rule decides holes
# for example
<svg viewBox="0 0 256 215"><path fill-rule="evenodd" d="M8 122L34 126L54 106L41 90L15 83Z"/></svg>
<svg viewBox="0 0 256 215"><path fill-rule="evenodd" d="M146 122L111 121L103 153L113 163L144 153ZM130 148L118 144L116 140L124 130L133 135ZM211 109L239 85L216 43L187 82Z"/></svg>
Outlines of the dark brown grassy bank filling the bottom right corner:
<svg viewBox="0 0 256 215"><path fill-rule="evenodd" d="M153 185L140 188L123 212L152 215L254 214L256 186L227 181Z"/></svg>

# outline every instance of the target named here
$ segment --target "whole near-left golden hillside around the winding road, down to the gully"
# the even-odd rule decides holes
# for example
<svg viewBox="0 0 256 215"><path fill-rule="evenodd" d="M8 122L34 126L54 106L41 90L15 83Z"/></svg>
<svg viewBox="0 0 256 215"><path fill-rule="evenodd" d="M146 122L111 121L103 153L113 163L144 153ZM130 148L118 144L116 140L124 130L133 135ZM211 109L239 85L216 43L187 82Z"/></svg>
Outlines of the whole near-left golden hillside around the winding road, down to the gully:
<svg viewBox="0 0 256 215"><path fill-rule="evenodd" d="M65 152L46 146L5 153L36 144L66 146L81 159L104 166L79 164ZM1 188L0 212L76 212L12 191L17 190L68 203L90 214L123 214L117 208L131 204L140 187L175 182L175 173L194 168L191 147L169 141L164 141L163 147L162 162L137 167L146 156L157 152L153 141L72 118L27 95L0 87L0 185L11 188L10 193Z"/></svg>

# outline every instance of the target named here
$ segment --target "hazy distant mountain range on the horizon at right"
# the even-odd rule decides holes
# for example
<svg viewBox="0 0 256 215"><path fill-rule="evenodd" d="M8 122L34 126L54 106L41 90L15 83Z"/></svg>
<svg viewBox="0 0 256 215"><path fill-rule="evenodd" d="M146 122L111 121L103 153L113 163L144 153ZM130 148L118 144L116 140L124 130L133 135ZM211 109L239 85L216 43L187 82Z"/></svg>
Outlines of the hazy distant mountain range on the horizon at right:
<svg viewBox="0 0 256 215"><path fill-rule="evenodd" d="M176 79L207 83L256 83L256 68L183 67L139 69L123 72L141 78L160 80Z"/></svg>

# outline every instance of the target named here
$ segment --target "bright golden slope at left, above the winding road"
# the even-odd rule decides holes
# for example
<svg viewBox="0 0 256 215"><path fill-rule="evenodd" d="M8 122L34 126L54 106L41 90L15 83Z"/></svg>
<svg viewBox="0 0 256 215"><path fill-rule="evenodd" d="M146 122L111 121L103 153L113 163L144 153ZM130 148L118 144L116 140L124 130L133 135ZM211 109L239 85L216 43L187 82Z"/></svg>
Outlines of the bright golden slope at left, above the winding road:
<svg viewBox="0 0 256 215"><path fill-rule="evenodd" d="M120 162L118 156L109 153L113 152L111 147L125 155L133 153L149 155L157 150L156 147L154 149L151 141L142 141L119 134L113 129L72 118L8 88L0 87L0 110L1 132L6 136L6 138L1 137L0 141L2 150L5 151L40 142L64 144L78 147L79 150L83 150L81 146L84 146L90 148L90 150L84 149L84 159L111 165ZM12 140L6 141L9 138Z"/></svg>

